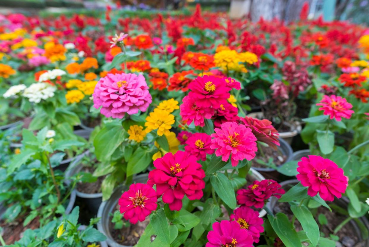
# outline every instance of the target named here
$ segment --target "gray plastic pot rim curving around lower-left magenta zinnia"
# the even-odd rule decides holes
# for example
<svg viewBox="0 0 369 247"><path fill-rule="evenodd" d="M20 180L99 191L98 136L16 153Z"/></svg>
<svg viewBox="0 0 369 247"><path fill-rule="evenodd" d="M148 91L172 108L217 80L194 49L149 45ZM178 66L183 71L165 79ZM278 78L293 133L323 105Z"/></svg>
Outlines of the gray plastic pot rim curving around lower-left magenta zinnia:
<svg viewBox="0 0 369 247"><path fill-rule="evenodd" d="M134 183L146 183L147 180L148 180L148 173L141 174L133 178ZM111 211L113 211L115 206L117 206L119 198L122 196L123 192L127 189L128 189L128 186L126 185L118 186L114 190L110 199L100 204L99 211L97 212L97 217L100 217L100 221L97 223L97 230L99 230L101 233L103 233L107 237L106 243L110 247L127 247L127 246L124 246L124 245L121 245L115 242L109 230L110 213ZM101 247L107 247L107 245L101 244Z"/></svg>

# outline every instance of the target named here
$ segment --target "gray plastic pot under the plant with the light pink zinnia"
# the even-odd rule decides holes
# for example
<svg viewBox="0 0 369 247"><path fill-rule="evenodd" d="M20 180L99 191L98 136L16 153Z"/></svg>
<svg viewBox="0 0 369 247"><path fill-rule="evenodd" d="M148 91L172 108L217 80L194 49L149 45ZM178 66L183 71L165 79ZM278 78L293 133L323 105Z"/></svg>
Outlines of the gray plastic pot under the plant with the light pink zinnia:
<svg viewBox="0 0 369 247"><path fill-rule="evenodd" d="M65 183L70 184L69 177L74 176L75 174L79 173L83 166L81 165L82 159L89 155L90 151L87 150L86 152L82 153L81 155L78 155L72 163L70 163L70 166L65 172ZM103 193L83 193L79 192L76 189L76 195L77 197L80 197L83 199L83 201L87 204L87 207L89 208L90 212L93 214L97 213L97 210L99 210L99 206L101 204L101 201L103 199Z"/></svg>

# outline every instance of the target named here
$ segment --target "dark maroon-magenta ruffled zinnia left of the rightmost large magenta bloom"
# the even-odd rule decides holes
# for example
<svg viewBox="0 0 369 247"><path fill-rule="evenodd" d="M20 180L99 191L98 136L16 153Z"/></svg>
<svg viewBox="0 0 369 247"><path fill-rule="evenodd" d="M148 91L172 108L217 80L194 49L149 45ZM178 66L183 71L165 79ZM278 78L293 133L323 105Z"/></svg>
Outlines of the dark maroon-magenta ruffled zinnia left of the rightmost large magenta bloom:
<svg viewBox="0 0 369 247"><path fill-rule="evenodd" d="M270 197L275 196L279 199L284 193L279 183L272 179L264 179L254 181L247 189L238 190L236 199L239 205L261 209Z"/></svg>

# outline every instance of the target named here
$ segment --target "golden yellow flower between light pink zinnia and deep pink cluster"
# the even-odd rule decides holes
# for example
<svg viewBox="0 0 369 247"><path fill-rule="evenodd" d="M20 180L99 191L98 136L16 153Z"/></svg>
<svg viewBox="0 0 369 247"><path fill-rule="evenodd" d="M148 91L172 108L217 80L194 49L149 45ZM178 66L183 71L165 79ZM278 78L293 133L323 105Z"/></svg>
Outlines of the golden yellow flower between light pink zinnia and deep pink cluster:
<svg viewBox="0 0 369 247"><path fill-rule="evenodd" d="M174 124L174 116L167 111L156 109L154 112L150 112L150 115L146 117L145 126L146 133L154 129L158 129L158 135L169 135L169 129Z"/></svg>

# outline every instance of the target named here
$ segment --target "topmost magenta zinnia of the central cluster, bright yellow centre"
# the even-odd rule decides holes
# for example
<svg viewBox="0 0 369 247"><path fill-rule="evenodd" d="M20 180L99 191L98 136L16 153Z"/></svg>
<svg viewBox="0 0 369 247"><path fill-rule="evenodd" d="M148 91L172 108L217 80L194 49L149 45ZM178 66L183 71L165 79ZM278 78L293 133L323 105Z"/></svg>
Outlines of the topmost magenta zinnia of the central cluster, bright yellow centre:
<svg viewBox="0 0 369 247"><path fill-rule="evenodd" d="M204 75L197 77L188 85L192 91L189 97L196 99L196 104L200 107L219 108L220 104L227 102L230 97L230 87L224 79L215 76Z"/></svg>

